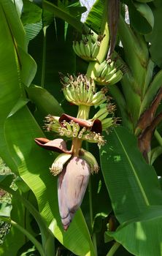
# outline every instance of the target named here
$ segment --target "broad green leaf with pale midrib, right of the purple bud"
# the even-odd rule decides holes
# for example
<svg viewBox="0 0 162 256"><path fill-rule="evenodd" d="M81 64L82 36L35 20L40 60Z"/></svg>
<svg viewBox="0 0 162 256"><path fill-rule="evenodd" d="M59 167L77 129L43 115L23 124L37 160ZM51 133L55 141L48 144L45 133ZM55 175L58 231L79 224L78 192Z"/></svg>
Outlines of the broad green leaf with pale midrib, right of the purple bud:
<svg viewBox="0 0 162 256"><path fill-rule="evenodd" d="M106 139L100 151L101 169L119 222L139 217L147 206L161 205L158 177L144 161L134 135L118 127Z"/></svg>

